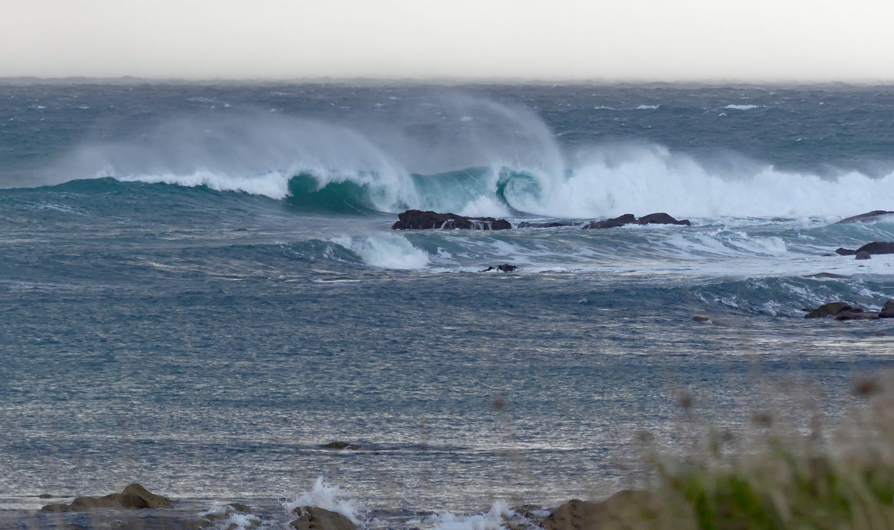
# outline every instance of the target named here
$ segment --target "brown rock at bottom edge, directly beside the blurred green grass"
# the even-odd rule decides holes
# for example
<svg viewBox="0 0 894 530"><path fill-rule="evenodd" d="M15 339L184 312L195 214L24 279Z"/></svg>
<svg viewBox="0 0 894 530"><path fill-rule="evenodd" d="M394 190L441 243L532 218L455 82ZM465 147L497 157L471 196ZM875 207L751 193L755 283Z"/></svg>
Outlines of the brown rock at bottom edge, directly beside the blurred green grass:
<svg viewBox="0 0 894 530"><path fill-rule="evenodd" d="M602 502L573 499L544 519L546 530L649 530L657 526L657 501L650 492L624 490Z"/></svg>

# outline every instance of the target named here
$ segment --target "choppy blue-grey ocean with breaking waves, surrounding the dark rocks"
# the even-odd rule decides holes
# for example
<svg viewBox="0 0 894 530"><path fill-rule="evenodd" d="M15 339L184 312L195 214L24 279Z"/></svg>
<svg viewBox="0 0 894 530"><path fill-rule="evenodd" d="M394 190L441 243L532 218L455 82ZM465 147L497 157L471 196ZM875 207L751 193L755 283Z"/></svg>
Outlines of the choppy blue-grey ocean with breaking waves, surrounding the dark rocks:
<svg viewBox="0 0 894 530"><path fill-rule="evenodd" d="M802 311L894 298L894 255L834 254L894 240L894 216L836 224L894 210L894 87L0 99L3 527L173 528L240 501L270 527L316 504L484 530L647 484L637 440L681 450L681 392L730 433L762 410L807 429L894 366L891 320ZM411 208L514 228L392 230ZM656 212L692 225L573 225ZM175 509L38 513L131 482Z"/></svg>

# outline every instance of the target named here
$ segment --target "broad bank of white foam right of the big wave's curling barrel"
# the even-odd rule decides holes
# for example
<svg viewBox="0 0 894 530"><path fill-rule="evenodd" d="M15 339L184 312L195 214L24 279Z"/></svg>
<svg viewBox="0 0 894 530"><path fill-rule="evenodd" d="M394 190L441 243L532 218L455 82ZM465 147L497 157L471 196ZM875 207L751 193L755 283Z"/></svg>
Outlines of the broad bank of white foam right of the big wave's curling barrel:
<svg viewBox="0 0 894 530"><path fill-rule="evenodd" d="M562 218L653 212L680 218L848 216L894 204L894 173L821 178L763 166L726 175L660 146L596 148L580 160L569 176L532 172L542 186L539 196L507 186L510 206Z"/></svg>

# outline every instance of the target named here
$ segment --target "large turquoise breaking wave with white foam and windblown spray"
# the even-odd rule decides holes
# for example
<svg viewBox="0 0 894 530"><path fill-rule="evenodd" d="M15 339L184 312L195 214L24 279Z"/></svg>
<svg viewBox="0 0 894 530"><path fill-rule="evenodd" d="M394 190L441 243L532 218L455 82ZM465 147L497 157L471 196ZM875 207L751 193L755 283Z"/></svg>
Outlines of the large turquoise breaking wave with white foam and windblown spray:
<svg viewBox="0 0 894 530"><path fill-rule="evenodd" d="M283 118L173 122L144 135L149 140L81 148L65 170L74 178L207 186L340 213L836 216L894 205L894 173L821 176L757 162L734 171L648 144L567 152L533 113L486 102L470 108L464 112L474 116L445 119L452 129L439 138L451 140L440 143L423 133Z"/></svg>

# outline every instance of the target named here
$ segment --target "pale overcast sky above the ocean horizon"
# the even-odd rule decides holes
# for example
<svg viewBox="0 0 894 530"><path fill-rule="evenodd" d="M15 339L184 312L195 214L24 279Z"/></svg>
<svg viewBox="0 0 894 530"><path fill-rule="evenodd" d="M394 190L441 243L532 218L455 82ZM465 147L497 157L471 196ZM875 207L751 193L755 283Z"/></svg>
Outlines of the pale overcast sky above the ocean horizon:
<svg viewBox="0 0 894 530"><path fill-rule="evenodd" d="M0 77L894 80L891 0L0 0Z"/></svg>

